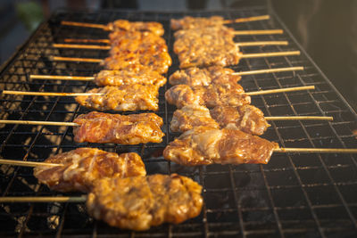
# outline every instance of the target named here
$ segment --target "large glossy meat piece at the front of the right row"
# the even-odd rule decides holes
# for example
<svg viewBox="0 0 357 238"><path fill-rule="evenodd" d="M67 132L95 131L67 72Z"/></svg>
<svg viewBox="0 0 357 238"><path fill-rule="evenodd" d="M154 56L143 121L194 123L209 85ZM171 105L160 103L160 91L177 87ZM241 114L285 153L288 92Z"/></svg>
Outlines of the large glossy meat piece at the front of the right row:
<svg viewBox="0 0 357 238"><path fill-rule="evenodd" d="M163 157L185 166L266 164L277 143L237 129L194 127L166 146Z"/></svg>

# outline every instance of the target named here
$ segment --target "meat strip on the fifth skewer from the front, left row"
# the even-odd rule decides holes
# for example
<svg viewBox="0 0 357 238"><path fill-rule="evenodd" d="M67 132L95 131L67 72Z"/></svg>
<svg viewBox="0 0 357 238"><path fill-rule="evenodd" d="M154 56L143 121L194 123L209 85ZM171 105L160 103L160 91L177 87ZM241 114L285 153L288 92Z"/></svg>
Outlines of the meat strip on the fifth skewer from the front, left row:
<svg viewBox="0 0 357 238"><path fill-rule="evenodd" d="M101 70L95 75L97 86L154 85L164 86L166 78L144 66L128 67L124 70Z"/></svg>

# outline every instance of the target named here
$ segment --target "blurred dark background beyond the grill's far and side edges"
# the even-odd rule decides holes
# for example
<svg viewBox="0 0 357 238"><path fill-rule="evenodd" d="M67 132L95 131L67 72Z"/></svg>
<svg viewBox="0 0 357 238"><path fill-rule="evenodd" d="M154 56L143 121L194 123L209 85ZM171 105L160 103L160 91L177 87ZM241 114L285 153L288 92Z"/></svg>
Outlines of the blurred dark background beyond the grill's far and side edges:
<svg viewBox="0 0 357 238"><path fill-rule="evenodd" d="M139 11L224 10L267 5L286 23L347 101L357 110L356 0L0 0L0 64L58 8Z"/></svg>

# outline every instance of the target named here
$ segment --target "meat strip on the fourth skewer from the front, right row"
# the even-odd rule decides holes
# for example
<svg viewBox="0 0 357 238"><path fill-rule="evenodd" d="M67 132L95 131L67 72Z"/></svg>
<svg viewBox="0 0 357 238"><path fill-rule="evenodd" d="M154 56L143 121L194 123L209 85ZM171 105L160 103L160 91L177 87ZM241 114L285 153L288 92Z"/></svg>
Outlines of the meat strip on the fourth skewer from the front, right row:
<svg viewBox="0 0 357 238"><path fill-rule="evenodd" d="M234 75L235 71L222 68L220 66L211 66L209 68L192 67L186 70L177 70L171 74L169 82L171 85L188 86L209 86L211 84L232 84L237 83L241 77Z"/></svg>

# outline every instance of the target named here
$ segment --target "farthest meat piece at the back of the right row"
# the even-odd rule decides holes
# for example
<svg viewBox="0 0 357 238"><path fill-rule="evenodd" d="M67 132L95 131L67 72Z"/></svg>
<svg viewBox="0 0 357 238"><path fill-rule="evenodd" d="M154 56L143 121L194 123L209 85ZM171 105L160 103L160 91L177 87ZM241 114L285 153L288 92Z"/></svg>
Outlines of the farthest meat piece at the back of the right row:
<svg viewBox="0 0 357 238"><path fill-rule="evenodd" d="M223 25L223 18L212 16L209 18L187 16L182 19L171 19L171 29L203 29L210 27L220 27Z"/></svg>

